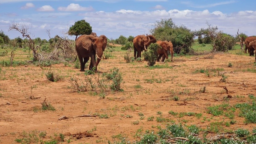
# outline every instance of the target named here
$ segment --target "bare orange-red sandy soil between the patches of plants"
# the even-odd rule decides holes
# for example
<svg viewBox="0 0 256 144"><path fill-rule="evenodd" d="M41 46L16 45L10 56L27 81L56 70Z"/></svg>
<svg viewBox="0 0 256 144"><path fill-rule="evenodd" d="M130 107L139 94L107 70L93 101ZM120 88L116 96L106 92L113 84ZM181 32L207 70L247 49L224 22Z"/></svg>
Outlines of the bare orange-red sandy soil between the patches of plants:
<svg viewBox="0 0 256 144"><path fill-rule="evenodd" d="M113 52L109 60L101 60L98 70L110 72L117 67L122 74L124 92L106 92L106 97L93 95L92 91L72 91L69 80L71 77L85 80L94 76L85 76L79 69L64 64L54 64L51 70L63 76L57 82L49 81L45 74L49 67L44 69L35 65L2 67L0 73L0 143L16 143L15 139L24 138L23 132L36 134L39 138L41 132L46 132L43 141L51 140L56 135L64 134L65 142L69 138L71 143L107 143L119 141L115 135L122 134L127 140L134 142L140 140L135 134L138 129L155 130L157 125L166 122L157 122L156 117L162 112L162 117L175 121L176 124L195 124L206 129L210 122L230 121L225 116L215 116L207 113L207 108L213 105L228 103L234 105L251 101L248 94L256 94L255 83L255 57L217 53L204 56L177 56L174 62L159 65L168 65L173 68L149 69L146 61L126 63L123 59L125 52ZM198 60L195 60L198 58ZM190 61L193 60L193 61ZM232 67L228 67L229 62ZM227 76L226 82L220 82L221 76L216 72L222 68L220 74ZM248 71L248 68L254 72ZM208 69L209 77L198 70ZM197 72L196 72L197 70ZM6 79L5 79L6 78ZM151 80L151 83L149 82ZM137 86L136 86L137 85ZM138 86L140 85L141 88ZM205 86L205 93L199 92ZM223 87L228 89L228 94ZM97 90L99 93L99 90ZM32 99L31 99L32 96ZM174 101L173 97L179 97ZM227 97L228 96L228 97ZM226 97L226 98L225 98ZM33 99L34 98L34 99ZM41 110L42 102L46 98L56 111ZM199 119L195 116L178 117L169 114L174 112L202 113ZM225 127L228 130L245 128L252 130L256 124L245 124L243 117L238 117L235 112L236 123ZM72 117L85 114L107 114L109 118L77 117L58 120L65 115ZM138 113L144 114L144 119ZM154 116L153 121L147 118ZM209 121L203 121L206 117ZM90 132L85 134L83 132ZM69 134L80 134L72 138ZM200 133L200 136L203 134ZM216 134L209 133L207 137ZM78 138L78 139L77 139ZM40 140L38 143L40 143ZM37 143L33 142L32 143Z"/></svg>

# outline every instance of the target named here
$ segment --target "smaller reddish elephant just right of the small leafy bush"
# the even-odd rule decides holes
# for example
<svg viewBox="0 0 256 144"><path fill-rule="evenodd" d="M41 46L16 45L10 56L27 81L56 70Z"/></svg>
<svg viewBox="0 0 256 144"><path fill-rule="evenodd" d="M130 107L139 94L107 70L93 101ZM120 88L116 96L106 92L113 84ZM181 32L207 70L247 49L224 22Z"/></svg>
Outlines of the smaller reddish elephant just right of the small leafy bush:
<svg viewBox="0 0 256 144"><path fill-rule="evenodd" d="M162 62L164 62L164 59L168 59L168 53L167 51L170 51L171 52L171 61L172 61L172 58L173 58L173 45L171 42L168 42L168 41L161 41L161 40L158 40L156 42L157 44L159 44L162 48L159 48L157 50L157 53L159 54L158 58L156 61L159 61L161 56L162 57Z"/></svg>

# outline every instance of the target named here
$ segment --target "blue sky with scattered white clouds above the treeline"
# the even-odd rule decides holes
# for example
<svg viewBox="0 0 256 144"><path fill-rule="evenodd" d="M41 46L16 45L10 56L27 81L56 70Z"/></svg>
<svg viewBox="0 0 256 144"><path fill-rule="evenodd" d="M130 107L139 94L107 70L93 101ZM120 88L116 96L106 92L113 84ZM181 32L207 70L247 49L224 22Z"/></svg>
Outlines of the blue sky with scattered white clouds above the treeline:
<svg viewBox="0 0 256 144"><path fill-rule="evenodd" d="M0 0L0 30L11 39L21 34L8 31L14 21L31 28L33 38L49 39L85 19L97 35L116 39L150 34L155 21L172 18L191 30L206 28L206 22L235 35L237 29L256 35L255 0ZM70 39L74 37L68 36Z"/></svg>

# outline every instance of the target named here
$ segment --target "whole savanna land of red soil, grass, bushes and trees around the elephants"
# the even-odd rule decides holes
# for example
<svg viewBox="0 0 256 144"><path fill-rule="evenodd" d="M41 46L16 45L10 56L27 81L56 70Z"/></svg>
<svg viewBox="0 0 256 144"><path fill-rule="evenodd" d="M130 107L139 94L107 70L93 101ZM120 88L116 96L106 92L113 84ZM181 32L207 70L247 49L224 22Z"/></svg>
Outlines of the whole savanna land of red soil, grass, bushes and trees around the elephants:
<svg viewBox="0 0 256 144"><path fill-rule="evenodd" d="M0 32L0 143L256 143L256 64L236 44L243 33L162 19L150 33L173 43L173 62L156 62L156 43L134 59L136 35L120 35L99 72L89 62L79 72L75 40L10 30L21 36ZM81 20L68 34L91 32Z"/></svg>

